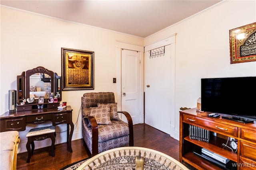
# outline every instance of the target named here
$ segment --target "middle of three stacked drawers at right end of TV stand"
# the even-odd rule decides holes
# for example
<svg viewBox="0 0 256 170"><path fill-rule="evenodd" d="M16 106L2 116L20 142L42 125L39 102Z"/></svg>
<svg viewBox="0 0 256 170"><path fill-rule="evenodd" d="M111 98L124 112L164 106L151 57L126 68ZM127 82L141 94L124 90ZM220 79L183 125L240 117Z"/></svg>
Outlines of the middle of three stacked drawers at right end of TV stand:
<svg viewBox="0 0 256 170"><path fill-rule="evenodd" d="M240 155L256 161L256 145L240 141Z"/></svg>

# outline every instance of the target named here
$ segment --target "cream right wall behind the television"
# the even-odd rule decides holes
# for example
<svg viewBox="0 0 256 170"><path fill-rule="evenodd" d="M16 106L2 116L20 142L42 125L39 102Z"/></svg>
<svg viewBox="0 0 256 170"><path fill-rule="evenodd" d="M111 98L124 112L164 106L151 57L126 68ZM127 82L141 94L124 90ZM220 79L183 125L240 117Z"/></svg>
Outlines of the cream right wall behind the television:
<svg viewBox="0 0 256 170"><path fill-rule="evenodd" d="M151 44L176 35L174 138L179 138L180 107L196 107L201 78L256 76L256 62L230 64L229 30L256 22L255 0L224 1L145 39Z"/></svg>

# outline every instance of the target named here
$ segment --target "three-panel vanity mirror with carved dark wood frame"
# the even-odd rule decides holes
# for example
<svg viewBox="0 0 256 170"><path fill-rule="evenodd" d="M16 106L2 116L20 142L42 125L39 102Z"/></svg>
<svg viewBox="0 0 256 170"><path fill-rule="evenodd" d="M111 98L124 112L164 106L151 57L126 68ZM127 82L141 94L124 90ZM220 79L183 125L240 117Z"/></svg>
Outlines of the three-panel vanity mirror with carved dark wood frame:
<svg viewBox="0 0 256 170"><path fill-rule="evenodd" d="M53 93L61 101L61 77L57 73L38 66L17 76L17 104L21 105L27 99L31 103L38 104L38 98L44 97L44 103L48 103Z"/></svg>

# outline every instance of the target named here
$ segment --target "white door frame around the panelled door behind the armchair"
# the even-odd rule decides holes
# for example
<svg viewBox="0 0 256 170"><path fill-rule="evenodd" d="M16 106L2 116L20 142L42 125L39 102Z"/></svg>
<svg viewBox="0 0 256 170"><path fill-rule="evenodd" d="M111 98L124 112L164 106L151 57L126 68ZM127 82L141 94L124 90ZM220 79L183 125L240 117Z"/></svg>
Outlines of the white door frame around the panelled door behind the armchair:
<svg viewBox="0 0 256 170"><path fill-rule="evenodd" d="M140 52L140 61L141 61L141 68L140 68L140 123L144 123L144 46L142 45L135 45L132 43L127 43L123 41L116 40L116 56L117 56L117 75L116 75L116 87L117 87L117 107L121 108L121 50L132 50L132 51L139 51Z"/></svg>

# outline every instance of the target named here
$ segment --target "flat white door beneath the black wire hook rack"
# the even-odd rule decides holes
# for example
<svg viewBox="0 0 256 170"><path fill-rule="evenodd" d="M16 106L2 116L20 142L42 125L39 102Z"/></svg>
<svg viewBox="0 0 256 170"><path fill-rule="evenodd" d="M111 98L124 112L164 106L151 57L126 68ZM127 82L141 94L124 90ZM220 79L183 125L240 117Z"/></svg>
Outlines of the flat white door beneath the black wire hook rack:
<svg viewBox="0 0 256 170"><path fill-rule="evenodd" d="M152 56L145 51L145 123L170 134L170 121L175 120L172 88L172 45L166 45L164 55Z"/></svg>

